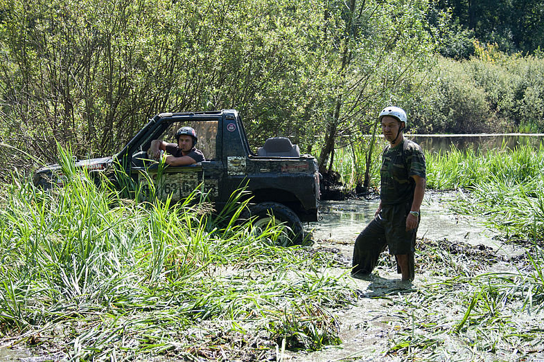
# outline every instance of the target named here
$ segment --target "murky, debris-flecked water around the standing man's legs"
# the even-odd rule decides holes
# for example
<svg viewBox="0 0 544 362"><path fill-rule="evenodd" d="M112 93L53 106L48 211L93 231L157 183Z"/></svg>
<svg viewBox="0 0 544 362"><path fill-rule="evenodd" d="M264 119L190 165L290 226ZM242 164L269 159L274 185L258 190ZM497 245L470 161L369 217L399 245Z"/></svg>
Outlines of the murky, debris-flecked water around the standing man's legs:
<svg viewBox="0 0 544 362"><path fill-rule="evenodd" d="M466 243L475 246L488 246L497 254L514 255L523 253L522 248L507 246L494 239L498 233L484 226L484 219L462 217L448 211L448 202L462 195L457 193L432 193L425 195L421 206L422 221L418 237L429 240L446 240L451 243ZM399 331L410 329L414 320L398 318L398 305L392 300L403 298L405 293L415 293L425 284L435 282L427 273L416 273L416 279L410 287L400 281L399 275L390 267L378 266L369 280L354 279L349 276L353 242L360 230L374 217L378 200L325 201L322 205L323 220L313 227L313 239L316 247L337 248L345 258L344 268L326 271L341 278L349 287L358 291L357 305L346 308L336 314L340 323L342 345L331 346L310 354L285 354L293 361L400 361L398 356L384 354L395 340ZM416 260L417 263L417 260ZM507 264L502 267L509 268ZM437 313L447 315L450 311ZM455 353L455 358L451 353ZM484 361L496 359L496 355L480 354ZM511 358L512 357L512 358ZM475 356L464 341L446 336L444 347L437 350L435 357L442 361L469 361ZM514 360L513 356L502 356L504 360Z"/></svg>

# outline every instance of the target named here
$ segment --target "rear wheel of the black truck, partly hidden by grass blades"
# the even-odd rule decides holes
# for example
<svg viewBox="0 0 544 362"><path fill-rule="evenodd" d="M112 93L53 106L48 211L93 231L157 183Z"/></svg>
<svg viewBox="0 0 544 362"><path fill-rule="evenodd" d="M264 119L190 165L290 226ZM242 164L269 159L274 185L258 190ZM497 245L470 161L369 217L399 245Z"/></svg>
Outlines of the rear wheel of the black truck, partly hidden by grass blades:
<svg viewBox="0 0 544 362"><path fill-rule="evenodd" d="M293 210L277 202L262 202L256 205L249 205L240 215L240 219L252 219L256 233L264 230L269 224L283 224L283 233L277 239L277 244L290 246L300 244L303 239L302 222Z"/></svg>

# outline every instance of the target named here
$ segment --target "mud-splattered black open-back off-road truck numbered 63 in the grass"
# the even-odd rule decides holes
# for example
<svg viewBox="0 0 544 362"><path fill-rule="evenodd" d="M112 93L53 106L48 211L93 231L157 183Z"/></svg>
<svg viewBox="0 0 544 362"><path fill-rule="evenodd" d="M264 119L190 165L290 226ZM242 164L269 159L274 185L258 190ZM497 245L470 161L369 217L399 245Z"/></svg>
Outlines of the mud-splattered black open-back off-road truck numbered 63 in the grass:
<svg viewBox="0 0 544 362"><path fill-rule="evenodd" d="M159 170L158 163L148 156L151 141L175 143L175 132L184 126L195 129L197 147L206 161ZM217 211L225 207L233 192L246 186L247 197L252 199L243 217L254 217L256 226L284 222L295 238L302 235L301 221L317 221L318 217L315 158L301 155L299 147L286 137L268 138L256 153L252 152L240 115L232 109L158 114L118 154L74 163L76 168L87 168L97 180L105 172L119 174L111 172L112 168L121 168L133 184L139 183L144 189L154 180L160 188L157 195L171 197L172 201L184 199L200 185ZM160 180L157 174L161 174ZM34 180L44 188L62 185L62 169L58 164L40 168Z"/></svg>

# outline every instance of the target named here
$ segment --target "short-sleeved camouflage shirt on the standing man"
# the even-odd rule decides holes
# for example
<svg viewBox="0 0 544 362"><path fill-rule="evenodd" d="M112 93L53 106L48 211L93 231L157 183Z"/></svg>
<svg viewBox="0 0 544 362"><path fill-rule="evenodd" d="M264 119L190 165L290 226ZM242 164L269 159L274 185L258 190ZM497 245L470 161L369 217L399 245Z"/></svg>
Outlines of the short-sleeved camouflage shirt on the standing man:
<svg viewBox="0 0 544 362"><path fill-rule="evenodd" d="M380 168L382 203L412 202L416 185L412 175L425 179L425 155L421 147L406 138L393 148L385 146Z"/></svg>

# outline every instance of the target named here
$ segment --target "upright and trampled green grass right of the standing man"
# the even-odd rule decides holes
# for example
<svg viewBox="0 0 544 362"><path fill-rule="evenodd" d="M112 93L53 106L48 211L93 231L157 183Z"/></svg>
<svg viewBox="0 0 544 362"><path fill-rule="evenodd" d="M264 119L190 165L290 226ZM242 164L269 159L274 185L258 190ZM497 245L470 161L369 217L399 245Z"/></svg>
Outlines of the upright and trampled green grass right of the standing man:
<svg viewBox="0 0 544 362"><path fill-rule="evenodd" d="M463 189L454 210L484 215L507 239L523 237L529 247L525 257L509 261L517 264L511 271L500 273L481 273L481 265L467 266L464 255L455 257L443 248L425 253L423 260L440 262L445 278L428 284L424 296L407 298L407 313L421 327L397 338L389 352L442 359L452 353L448 338L453 336L493 359L531 359L535 347L542 348L544 323L543 147L428 154L427 161L430 188ZM449 311L441 320L432 307L437 300L444 300ZM449 336L444 338L440 329Z"/></svg>

